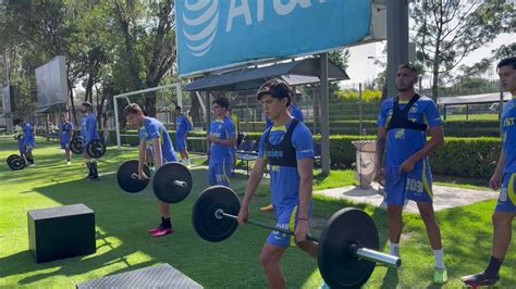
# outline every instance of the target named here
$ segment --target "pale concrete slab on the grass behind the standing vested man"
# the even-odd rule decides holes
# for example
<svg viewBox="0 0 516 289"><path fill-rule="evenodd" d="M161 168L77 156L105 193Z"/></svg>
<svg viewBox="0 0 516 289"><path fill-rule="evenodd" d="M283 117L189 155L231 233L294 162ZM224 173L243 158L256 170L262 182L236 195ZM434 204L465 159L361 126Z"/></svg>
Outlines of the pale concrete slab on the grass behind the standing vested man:
<svg viewBox="0 0 516 289"><path fill-rule="evenodd" d="M314 194L322 194L335 199L345 199L355 203L367 203L385 209L382 190L379 185L373 183L371 188L361 189L360 187L342 187L315 191ZM496 199L499 192L491 190L471 190L454 187L442 187L433 185L433 208L435 211L451 209L462 205L468 205L481 201ZM419 213L416 202L409 201L405 205L405 212Z"/></svg>

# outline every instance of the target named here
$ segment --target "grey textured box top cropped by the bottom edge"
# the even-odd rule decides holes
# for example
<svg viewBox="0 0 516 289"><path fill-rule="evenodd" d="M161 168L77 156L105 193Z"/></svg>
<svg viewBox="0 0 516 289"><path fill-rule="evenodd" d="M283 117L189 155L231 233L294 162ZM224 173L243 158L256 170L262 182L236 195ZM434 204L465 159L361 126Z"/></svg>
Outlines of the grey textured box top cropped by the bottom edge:
<svg viewBox="0 0 516 289"><path fill-rule="evenodd" d="M202 288L202 286L171 265L161 264L77 284L77 288Z"/></svg>

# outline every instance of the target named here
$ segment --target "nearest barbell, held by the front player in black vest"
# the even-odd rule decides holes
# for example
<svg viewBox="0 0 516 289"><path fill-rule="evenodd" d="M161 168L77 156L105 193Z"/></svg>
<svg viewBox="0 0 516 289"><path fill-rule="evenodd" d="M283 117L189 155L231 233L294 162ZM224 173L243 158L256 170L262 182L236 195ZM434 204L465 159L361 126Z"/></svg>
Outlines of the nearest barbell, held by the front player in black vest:
<svg viewBox="0 0 516 289"><path fill-rule="evenodd" d="M210 242L229 238L237 228L241 202L237 194L224 186L212 186L202 191L194 204L192 221L197 234ZM280 231L295 233L258 223L247 224ZM374 221L363 210L342 209L327 222L319 238L307 236L319 243L318 266L331 288L359 288L371 276L377 263L398 268L402 261L380 250Z"/></svg>

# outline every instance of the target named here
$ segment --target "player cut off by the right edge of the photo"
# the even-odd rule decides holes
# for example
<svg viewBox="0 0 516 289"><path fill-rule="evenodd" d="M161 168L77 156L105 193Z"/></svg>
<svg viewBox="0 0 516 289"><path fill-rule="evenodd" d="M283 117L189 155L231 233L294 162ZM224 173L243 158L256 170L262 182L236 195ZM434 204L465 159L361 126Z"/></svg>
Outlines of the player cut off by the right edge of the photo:
<svg viewBox="0 0 516 289"><path fill-rule="evenodd" d="M494 210L493 244L489 265L480 274L469 275L462 280L474 288L492 286L500 280L500 268L511 244L512 223L516 216L516 58L502 60L496 66L500 85L513 95L502 113L502 152L489 186L493 190L502 188ZM514 254L513 254L514 256ZM513 269L514 273L514 269Z"/></svg>

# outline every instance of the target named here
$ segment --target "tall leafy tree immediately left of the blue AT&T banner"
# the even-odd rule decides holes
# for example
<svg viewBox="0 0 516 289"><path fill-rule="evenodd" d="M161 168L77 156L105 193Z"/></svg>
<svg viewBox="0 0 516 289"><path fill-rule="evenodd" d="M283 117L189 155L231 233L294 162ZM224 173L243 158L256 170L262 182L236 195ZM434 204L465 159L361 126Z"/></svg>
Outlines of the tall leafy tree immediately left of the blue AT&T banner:
<svg viewBox="0 0 516 289"><path fill-rule="evenodd" d="M135 1L113 1L113 15L123 46L115 68L128 70L132 90L156 87L175 62L174 2L150 1L148 7ZM156 115L156 98L145 99L149 115Z"/></svg>

